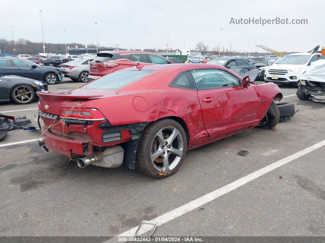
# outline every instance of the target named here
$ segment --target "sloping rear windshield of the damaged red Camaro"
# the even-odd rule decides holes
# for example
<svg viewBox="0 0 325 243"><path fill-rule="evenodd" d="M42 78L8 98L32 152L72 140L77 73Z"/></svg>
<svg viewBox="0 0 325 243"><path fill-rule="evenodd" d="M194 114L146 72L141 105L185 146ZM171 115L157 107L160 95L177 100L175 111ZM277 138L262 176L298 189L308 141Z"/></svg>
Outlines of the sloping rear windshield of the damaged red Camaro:
<svg viewBox="0 0 325 243"><path fill-rule="evenodd" d="M81 89L117 90L154 72L152 70L117 71L96 79L82 86Z"/></svg>

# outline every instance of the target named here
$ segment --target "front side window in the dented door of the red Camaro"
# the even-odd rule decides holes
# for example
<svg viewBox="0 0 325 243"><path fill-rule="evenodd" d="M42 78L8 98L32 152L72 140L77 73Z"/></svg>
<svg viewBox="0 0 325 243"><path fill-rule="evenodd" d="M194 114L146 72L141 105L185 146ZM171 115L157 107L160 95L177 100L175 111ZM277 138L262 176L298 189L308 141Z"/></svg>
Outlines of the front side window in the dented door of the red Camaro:
<svg viewBox="0 0 325 243"><path fill-rule="evenodd" d="M190 71L198 90L218 89L240 85L232 74L220 69L199 69Z"/></svg>

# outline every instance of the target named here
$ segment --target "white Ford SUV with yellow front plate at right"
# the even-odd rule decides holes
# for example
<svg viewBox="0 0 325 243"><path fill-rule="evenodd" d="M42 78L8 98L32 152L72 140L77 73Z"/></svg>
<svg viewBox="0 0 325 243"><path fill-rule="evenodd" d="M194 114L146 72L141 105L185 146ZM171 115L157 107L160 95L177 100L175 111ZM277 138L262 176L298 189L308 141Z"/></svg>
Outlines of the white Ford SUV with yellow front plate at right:
<svg viewBox="0 0 325 243"><path fill-rule="evenodd" d="M265 82L279 84L297 84L300 76L305 72L310 63L324 59L321 53L305 52L291 53L274 62L265 69Z"/></svg>

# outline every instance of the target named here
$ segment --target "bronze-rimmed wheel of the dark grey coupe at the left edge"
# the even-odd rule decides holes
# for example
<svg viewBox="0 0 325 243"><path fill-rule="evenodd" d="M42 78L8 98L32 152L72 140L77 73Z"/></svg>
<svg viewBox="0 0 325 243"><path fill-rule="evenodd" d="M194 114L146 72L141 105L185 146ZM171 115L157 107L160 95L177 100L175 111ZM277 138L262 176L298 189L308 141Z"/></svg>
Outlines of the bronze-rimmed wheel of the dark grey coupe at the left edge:
<svg viewBox="0 0 325 243"><path fill-rule="evenodd" d="M17 104L29 104L35 99L35 91L32 86L18 85L11 90L10 98Z"/></svg>

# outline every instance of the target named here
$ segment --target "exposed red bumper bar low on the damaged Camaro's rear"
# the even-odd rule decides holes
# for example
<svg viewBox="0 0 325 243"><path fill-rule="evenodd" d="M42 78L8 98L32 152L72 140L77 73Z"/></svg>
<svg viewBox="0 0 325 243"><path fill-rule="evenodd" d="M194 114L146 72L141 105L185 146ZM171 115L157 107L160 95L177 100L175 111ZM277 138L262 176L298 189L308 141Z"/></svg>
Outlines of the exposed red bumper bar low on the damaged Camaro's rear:
<svg viewBox="0 0 325 243"><path fill-rule="evenodd" d="M71 157L72 154L89 155L93 153L92 146L89 141L69 138L61 138L46 130L46 126L42 127L42 138L46 147L50 150Z"/></svg>

